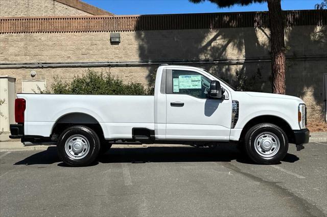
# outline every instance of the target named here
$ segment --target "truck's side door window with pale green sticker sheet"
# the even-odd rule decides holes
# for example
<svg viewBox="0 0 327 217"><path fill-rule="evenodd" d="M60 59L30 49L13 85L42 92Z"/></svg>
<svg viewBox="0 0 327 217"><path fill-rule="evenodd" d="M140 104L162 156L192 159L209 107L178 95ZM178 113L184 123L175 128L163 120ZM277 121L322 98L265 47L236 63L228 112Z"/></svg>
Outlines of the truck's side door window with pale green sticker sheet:
<svg viewBox="0 0 327 217"><path fill-rule="evenodd" d="M173 94L207 98L211 80L193 71L172 70Z"/></svg>

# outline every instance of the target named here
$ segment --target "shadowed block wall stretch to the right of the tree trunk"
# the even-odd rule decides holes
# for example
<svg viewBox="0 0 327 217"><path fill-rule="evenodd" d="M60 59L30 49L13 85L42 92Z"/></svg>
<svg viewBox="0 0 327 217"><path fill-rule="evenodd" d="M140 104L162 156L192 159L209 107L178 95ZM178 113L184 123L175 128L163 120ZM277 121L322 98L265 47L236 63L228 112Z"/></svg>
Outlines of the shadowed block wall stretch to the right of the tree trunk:
<svg viewBox="0 0 327 217"><path fill-rule="evenodd" d="M297 17L297 19L301 19ZM321 22L318 20L317 22ZM286 28L286 94L313 98L322 109L314 108L314 117L323 116L324 78L327 73L327 26L305 25ZM315 58L306 58L315 56ZM304 57L304 58L299 58ZM306 99L305 99L306 100ZM322 121L322 120L321 120Z"/></svg>

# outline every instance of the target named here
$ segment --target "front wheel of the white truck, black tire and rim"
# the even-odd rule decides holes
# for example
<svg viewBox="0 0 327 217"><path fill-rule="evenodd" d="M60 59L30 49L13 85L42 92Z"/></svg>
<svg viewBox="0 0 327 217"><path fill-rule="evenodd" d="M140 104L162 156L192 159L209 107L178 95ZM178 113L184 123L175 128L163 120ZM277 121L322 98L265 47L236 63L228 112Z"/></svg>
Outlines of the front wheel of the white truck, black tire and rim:
<svg viewBox="0 0 327 217"><path fill-rule="evenodd" d="M288 151L286 133L282 128L271 123L251 127L245 134L244 142L247 155L258 164L278 164ZM278 148L270 146L278 143Z"/></svg>

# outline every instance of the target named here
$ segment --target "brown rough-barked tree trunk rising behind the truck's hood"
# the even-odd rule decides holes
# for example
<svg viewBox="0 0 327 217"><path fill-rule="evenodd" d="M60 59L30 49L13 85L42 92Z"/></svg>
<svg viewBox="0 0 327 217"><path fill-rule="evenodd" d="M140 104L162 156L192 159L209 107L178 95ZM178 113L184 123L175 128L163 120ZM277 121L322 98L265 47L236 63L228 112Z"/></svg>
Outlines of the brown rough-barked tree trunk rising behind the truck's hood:
<svg viewBox="0 0 327 217"><path fill-rule="evenodd" d="M284 19L281 0L268 0L270 21L272 92L285 94Z"/></svg>

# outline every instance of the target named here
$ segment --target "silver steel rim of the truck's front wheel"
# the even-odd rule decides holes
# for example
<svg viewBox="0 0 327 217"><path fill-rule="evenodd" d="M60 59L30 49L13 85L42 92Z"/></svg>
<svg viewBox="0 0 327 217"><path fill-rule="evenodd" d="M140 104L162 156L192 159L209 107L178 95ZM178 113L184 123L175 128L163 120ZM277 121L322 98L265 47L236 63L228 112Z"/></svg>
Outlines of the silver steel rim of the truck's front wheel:
<svg viewBox="0 0 327 217"><path fill-rule="evenodd" d="M271 132L259 134L254 141L255 151L263 157L274 156L280 147L278 137Z"/></svg>

